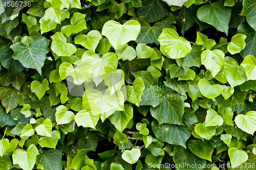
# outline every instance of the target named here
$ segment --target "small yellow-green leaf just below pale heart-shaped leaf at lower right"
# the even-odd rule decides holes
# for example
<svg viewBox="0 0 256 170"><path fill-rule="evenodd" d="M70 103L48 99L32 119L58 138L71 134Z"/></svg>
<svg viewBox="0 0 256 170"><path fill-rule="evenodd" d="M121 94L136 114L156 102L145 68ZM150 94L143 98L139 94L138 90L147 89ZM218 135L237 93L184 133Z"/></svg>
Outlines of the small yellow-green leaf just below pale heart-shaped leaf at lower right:
<svg viewBox="0 0 256 170"><path fill-rule="evenodd" d="M205 127L204 124L201 123L195 126L196 133L206 140L210 140L210 138L215 135L216 129L216 126Z"/></svg>

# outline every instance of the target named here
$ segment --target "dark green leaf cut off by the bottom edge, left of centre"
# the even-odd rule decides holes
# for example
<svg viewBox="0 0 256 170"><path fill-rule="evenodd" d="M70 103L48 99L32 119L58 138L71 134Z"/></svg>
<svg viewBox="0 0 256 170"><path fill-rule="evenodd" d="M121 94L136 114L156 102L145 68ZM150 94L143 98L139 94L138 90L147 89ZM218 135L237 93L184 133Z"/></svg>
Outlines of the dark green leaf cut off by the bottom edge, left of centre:
<svg viewBox="0 0 256 170"><path fill-rule="evenodd" d="M59 150L50 149L44 154L39 155L37 161L44 166L45 169L62 169L62 153Z"/></svg>

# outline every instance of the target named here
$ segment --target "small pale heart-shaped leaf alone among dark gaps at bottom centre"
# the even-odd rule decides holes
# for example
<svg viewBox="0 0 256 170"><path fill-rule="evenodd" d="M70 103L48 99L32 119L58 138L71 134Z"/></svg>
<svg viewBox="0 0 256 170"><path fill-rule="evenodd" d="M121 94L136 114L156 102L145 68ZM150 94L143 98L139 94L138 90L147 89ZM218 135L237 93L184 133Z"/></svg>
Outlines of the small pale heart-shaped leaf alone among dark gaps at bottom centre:
<svg viewBox="0 0 256 170"><path fill-rule="evenodd" d="M122 153L122 158L128 163L134 164L140 158L140 149L134 147L131 151L125 150L124 153Z"/></svg>

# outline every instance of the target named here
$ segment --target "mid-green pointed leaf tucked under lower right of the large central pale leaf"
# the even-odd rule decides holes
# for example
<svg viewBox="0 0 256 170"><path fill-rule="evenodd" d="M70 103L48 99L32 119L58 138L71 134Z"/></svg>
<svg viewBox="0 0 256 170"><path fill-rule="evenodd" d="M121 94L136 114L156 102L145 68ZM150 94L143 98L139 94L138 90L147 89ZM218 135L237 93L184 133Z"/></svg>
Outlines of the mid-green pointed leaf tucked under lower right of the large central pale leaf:
<svg viewBox="0 0 256 170"><path fill-rule="evenodd" d="M124 111L115 111L108 118L110 119L110 122L115 125L116 129L122 132L133 118L133 107L124 104Z"/></svg>

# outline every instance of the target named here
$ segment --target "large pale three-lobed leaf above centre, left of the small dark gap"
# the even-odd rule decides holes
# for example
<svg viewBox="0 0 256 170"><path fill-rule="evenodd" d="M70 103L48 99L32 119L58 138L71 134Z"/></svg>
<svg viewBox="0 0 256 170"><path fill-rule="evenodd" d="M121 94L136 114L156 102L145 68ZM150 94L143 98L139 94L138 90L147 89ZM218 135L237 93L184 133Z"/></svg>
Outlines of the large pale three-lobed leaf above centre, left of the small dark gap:
<svg viewBox="0 0 256 170"><path fill-rule="evenodd" d="M118 63L115 53L106 53L100 58L97 54L89 50L83 53L81 61L92 66L92 80L96 86L102 81L100 76L104 74L103 68L108 66L109 71L114 71Z"/></svg>

